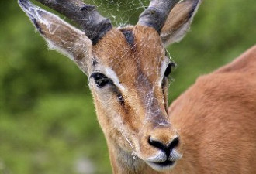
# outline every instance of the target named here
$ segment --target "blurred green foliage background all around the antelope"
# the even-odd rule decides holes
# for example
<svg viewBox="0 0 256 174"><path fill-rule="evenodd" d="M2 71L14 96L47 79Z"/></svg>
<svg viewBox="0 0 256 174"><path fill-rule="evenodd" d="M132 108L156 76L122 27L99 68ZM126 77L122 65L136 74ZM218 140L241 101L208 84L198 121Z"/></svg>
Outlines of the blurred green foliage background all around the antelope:
<svg viewBox="0 0 256 174"><path fill-rule="evenodd" d="M143 10L137 0L88 2L120 16L115 25L135 24ZM191 32L168 48L178 63L169 101L253 46L255 16L254 0L205 0ZM86 82L71 60L47 50L16 1L0 2L1 174L111 173Z"/></svg>

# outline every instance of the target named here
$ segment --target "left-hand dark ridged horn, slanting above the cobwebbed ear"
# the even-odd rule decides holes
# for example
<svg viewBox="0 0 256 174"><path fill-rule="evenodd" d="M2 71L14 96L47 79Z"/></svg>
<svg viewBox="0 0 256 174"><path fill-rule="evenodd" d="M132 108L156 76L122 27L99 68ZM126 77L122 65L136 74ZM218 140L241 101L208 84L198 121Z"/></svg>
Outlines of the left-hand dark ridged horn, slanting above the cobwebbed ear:
<svg viewBox="0 0 256 174"><path fill-rule="evenodd" d="M96 44L110 29L112 25L109 19L102 17L96 11L95 6L86 5L79 0L36 0L50 9L67 16L85 32L85 35Z"/></svg>

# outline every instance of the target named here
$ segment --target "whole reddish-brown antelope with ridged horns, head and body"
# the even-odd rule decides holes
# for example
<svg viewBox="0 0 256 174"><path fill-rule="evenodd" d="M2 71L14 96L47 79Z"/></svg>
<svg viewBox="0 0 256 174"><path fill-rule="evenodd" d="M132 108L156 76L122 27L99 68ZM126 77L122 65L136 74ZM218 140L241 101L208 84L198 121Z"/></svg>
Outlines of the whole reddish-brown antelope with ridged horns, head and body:
<svg viewBox="0 0 256 174"><path fill-rule="evenodd" d="M88 76L113 173L256 173L256 46L168 107L175 63L165 48L185 36L200 0L151 0L123 28L79 0L38 1L81 28L19 0L50 48Z"/></svg>

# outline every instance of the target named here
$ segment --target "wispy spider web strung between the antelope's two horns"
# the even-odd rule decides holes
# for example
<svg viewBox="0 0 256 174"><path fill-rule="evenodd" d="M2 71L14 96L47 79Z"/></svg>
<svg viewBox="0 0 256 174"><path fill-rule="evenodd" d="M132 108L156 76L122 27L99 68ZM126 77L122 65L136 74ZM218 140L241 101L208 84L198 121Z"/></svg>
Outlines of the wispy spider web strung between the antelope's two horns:
<svg viewBox="0 0 256 174"><path fill-rule="evenodd" d="M150 0L85 0L85 3L95 5L100 14L112 21L113 26L126 26L137 23Z"/></svg>

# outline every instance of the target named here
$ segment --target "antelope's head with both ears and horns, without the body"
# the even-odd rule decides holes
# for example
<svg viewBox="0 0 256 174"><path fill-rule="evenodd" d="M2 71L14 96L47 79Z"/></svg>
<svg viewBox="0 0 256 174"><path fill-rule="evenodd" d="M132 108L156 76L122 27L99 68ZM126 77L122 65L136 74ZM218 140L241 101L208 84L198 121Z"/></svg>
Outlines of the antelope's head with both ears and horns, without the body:
<svg viewBox="0 0 256 174"><path fill-rule="evenodd" d="M182 152L167 111L168 75L175 64L165 46L182 39L200 1L152 0L136 26L121 29L81 1L39 1L81 27L19 0L50 47L88 75L109 151L137 155L156 170L170 169Z"/></svg>

